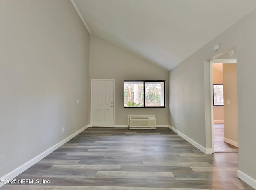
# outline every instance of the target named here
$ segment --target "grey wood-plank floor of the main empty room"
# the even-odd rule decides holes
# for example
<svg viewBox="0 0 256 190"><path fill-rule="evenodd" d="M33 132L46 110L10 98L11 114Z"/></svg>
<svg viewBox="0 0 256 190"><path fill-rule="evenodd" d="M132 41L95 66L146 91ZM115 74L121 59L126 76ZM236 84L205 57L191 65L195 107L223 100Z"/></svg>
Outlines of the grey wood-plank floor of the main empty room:
<svg viewBox="0 0 256 190"><path fill-rule="evenodd" d="M238 153L206 155L168 128L88 128L1 190L253 190L239 180Z"/></svg>

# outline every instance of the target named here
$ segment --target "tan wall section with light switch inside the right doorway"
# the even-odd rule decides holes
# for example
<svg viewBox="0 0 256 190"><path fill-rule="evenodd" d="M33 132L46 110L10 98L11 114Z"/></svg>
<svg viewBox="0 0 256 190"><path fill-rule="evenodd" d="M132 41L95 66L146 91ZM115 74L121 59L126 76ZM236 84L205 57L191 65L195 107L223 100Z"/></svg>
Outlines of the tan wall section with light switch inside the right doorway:
<svg viewBox="0 0 256 190"><path fill-rule="evenodd" d="M236 64L223 64L224 141L238 143L237 72ZM230 100L230 104L227 101ZM242 126L241 126L242 127ZM228 141L227 141L228 140ZM234 144L233 144L234 145Z"/></svg>

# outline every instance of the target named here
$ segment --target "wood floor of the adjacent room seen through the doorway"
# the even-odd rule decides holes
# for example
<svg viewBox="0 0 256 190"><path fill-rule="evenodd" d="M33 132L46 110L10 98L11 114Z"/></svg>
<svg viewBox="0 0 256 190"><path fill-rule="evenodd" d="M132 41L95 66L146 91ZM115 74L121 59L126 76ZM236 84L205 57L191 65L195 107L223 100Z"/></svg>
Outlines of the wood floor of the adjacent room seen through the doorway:
<svg viewBox="0 0 256 190"><path fill-rule="evenodd" d="M238 153L238 147L225 143L224 124L214 123L214 152L220 153Z"/></svg>

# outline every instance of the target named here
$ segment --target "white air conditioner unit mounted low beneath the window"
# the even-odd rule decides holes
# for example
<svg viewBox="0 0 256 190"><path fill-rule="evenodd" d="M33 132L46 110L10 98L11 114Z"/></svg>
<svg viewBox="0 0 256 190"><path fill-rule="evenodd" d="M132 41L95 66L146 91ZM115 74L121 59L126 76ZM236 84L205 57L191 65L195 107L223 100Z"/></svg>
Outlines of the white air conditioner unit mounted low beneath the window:
<svg viewBox="0 0 256 190"><path fill-rule="evenodd" d="M128 116L129 129L156 129L156 116Z"/></svg>

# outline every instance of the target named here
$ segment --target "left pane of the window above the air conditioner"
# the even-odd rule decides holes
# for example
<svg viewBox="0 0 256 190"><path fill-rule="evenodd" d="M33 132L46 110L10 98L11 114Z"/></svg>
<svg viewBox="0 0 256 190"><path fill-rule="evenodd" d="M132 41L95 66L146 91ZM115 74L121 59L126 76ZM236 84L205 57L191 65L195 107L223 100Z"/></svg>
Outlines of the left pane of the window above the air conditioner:
<svg viewBox="0 0 256 190"><path fill-rule="evenodd" d="M143 107L143 81L124 81L124 107Z"/></svg>

